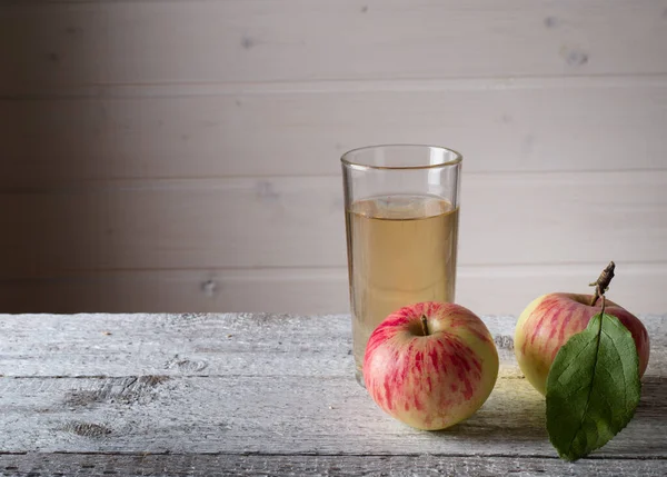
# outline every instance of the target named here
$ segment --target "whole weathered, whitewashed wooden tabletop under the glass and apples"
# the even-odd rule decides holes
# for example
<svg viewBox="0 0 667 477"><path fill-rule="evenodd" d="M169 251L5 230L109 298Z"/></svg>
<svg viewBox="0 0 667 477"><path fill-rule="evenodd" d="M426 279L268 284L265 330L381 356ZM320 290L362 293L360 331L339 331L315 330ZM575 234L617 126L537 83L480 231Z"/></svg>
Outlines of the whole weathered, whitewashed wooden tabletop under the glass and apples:
<svg viewBox="0 0 667 477"><path fill-rule="evenodd" d="M0 475L667 475L667 317L630 425L556 457L545 403L501 356L486 405L445 431L382 414L354 378L349 317L0 316Z"/></svg>

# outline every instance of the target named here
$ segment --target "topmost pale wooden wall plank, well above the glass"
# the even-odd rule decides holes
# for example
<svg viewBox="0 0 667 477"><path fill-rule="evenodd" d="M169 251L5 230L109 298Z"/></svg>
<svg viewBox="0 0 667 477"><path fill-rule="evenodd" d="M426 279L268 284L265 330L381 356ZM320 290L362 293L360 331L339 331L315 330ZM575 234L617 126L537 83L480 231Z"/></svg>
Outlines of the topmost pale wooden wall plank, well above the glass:
<svg viewBox="0 0 667 477"><path fill-rule="evenodd" d="M4 2L0 89L665 73L665 2Z"/></svg>

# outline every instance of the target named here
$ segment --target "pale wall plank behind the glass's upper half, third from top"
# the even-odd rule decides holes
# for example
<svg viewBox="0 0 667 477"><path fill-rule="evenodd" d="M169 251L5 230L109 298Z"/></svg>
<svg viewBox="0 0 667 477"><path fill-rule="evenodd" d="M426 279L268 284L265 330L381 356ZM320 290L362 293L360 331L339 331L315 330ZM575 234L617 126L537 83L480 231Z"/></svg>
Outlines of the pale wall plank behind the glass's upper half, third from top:
<svg viewBox="0 0 667 477"><path fill-rule="evenodd" d="M0 195L3 278L344 267L340 177L166 180ZM667 261L667 170L465 175L460 265Z"/></svg>

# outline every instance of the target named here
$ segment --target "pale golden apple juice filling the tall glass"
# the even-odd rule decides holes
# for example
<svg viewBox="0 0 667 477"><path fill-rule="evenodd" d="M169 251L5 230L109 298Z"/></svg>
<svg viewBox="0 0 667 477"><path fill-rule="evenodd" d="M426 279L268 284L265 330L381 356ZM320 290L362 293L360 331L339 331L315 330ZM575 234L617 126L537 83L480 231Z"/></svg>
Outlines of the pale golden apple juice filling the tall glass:
<svg viewBox="0 0 667 477"><path fill-rule="evenodd" d="M454 301L458 208L435 196L382 196L346 210L357 379L366 342L392 311Z"/></svg>

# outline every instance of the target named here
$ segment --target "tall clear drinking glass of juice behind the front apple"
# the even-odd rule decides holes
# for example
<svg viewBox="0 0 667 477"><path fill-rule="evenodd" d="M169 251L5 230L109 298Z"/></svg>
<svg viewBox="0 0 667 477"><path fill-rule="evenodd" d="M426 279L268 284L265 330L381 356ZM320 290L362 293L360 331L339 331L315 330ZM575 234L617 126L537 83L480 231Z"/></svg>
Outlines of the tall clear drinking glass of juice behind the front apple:
<svg viewBox="0 0 667 477"><path fill-rule="evenodd" d="M372 146L342 158L352 348L392 311L454 301L461 156L435 146Z"/></svg>

